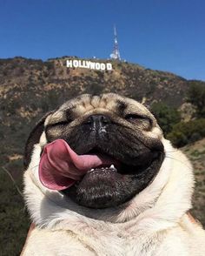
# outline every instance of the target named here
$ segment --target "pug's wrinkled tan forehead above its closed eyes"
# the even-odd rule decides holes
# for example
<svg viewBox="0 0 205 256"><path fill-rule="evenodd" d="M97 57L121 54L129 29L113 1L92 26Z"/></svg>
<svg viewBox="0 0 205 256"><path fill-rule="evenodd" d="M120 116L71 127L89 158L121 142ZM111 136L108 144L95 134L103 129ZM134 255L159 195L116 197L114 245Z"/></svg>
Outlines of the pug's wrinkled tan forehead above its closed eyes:
<svg viewBox="0 0 205 256"><path fill-rule="evenodd" d="M144 105L136 102L134 99L125 98L115 93L106 93L100 96L92 96L90 94L80 95L65 102L49 119L51 121L51 119L54 120L66 117L78 118L89 113L104 112L122 117L129 113L135 113L155 120L154 116Z"/></svg>

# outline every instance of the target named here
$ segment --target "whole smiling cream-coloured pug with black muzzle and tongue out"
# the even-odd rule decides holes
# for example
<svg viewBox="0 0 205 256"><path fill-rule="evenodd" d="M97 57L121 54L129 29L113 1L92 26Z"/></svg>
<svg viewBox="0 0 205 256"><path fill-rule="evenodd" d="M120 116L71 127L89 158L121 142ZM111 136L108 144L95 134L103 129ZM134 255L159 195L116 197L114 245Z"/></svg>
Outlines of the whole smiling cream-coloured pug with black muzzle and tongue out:
<svg viewBox="0 0 205 256"><path fill-rule="evenodd" d="M192 166L133 99L83 94L47 113L24 165L22 255L205 255Z"/></svg>

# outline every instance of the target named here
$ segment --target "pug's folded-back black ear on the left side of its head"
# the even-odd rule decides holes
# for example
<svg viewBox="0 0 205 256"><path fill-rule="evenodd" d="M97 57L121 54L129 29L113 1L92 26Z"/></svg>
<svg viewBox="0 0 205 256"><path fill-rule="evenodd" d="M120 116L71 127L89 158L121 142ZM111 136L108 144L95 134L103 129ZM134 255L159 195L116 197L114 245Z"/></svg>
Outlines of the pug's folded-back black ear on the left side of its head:
<svg viewBox="0 0 205 256"><path fill-rule="evenodd" d="M33 152L33 147L35 144L39 142L39 139L43 133L44 130L44 122L45 119L52 113L53 111L50 111L46 113L43 118L40 119L40 121L36 124L34 129L30 132L30 136L26 141L25 149L24 149L24 157L23 157L23 166L26 170L28 166L30 165L31 160L31 154Z"/></svg>

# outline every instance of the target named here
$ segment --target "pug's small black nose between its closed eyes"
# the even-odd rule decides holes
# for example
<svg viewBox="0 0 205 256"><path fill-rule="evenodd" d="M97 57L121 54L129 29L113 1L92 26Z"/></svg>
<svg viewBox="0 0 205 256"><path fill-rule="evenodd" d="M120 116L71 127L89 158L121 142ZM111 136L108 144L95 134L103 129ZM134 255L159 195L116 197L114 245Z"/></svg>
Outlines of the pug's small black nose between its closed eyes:
<svg viewBox="0 0 205 256"><path fill-rule="evenodd" d="M102 114L96 114L89 116L84 124L89 125L92 130L101 130L102 128L105 128L106 125L110 124L110 122L111 120L109 117Z"/></svg>

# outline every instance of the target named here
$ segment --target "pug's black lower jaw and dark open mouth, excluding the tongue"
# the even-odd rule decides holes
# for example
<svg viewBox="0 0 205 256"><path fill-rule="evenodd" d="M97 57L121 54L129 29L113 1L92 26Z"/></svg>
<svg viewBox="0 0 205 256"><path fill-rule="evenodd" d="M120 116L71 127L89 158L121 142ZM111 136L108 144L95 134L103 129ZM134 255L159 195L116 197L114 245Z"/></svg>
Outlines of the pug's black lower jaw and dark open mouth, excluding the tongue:
<svg viewBox="0 0 205 256"><path fill-rule="evenodd" d="M124 158L121 153L104 152L99 147L88 153L109 161L90 168L74 185L61 192L76 204L94 209L116 207L133 199L155 179L164 158L164 153L159 151Z"/></svg>

